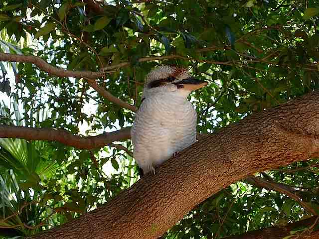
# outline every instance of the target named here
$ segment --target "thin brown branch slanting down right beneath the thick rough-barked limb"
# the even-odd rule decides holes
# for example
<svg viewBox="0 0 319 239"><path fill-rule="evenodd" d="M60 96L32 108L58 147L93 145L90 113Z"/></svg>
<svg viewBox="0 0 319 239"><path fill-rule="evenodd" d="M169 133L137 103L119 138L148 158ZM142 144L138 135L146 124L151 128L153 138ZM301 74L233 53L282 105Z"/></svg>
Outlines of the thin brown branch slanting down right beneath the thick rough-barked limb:
<svg viewBox="0 0 319 239"><path fill-rule="evenodd" d="M281 184L281 183L276 183L276 182L270 182L270 181L264 180L262 178L255 177L253 175L248 176L246 178L246 181L249 184L252 184L252 185L257 186L257 187L262 187L262 188L265 188L267 190L273 190L276 192L283 193L283 194L287 195L288 197L297 201L309 213L311 213L313 215L317 215L316 211L312 207L310 207L307 203L305 203L303 201L303 199L297 195L298 191L295 190L291 186Z"/></svg>

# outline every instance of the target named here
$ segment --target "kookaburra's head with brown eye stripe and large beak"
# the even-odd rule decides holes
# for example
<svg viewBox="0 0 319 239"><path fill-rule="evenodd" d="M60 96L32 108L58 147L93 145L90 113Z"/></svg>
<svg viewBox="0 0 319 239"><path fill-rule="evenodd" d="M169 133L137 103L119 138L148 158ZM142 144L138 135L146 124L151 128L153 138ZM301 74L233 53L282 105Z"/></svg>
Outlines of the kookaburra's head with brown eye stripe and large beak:
<svg viewBox="0 0 319 239"><path fill-rule="evenodd" d="M207 85L207 82L192 78L187 69L177 66L158 66L146 77L143 96L176 92L187 97L191 91Z"/></svg>

